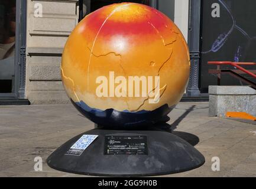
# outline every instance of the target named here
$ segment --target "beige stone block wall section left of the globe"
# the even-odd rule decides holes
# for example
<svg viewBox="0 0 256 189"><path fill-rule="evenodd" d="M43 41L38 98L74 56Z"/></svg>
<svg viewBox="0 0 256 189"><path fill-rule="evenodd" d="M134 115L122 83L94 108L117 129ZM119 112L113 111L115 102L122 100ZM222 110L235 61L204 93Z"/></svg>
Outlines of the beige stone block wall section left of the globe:
<svg viewBox="0 0 256 189"><path fill-rule="evenodd" d="M35 17L38 3L43 17ZM25 98L33 104L67 103L60 78L61 53L78 23L77 0L27 1Z"/></svg>

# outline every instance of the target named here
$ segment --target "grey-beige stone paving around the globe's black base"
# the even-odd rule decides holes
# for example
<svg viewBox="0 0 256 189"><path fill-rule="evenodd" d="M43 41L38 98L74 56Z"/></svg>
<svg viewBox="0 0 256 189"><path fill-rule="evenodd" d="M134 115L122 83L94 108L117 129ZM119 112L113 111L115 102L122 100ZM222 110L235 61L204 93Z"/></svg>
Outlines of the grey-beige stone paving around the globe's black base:
<svg viewBox="0 0 256 189"><path fill-rule="evenodd" d="M209 118L208 103L179 103L170 113L174 133L205 156L196 170L164 177L255 177L256 125ZM77 177L51 169L46 158L61 144L93 128L69 105L0 106L1 177ZM34 158L43 158L43 171L34 171ZM219 157L220 171L212 171Z"/></svg>

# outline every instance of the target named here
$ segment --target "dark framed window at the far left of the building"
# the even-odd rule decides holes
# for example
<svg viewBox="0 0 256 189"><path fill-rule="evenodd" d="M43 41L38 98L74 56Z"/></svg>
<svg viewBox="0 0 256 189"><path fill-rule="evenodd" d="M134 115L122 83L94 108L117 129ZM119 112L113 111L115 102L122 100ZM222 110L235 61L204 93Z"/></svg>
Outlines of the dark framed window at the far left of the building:
<svg viewBox="0 0 256 189"><path fill-rule="evenodd" d="M25 99L26 10L27 0L0 0L0 105Z"/></svg>

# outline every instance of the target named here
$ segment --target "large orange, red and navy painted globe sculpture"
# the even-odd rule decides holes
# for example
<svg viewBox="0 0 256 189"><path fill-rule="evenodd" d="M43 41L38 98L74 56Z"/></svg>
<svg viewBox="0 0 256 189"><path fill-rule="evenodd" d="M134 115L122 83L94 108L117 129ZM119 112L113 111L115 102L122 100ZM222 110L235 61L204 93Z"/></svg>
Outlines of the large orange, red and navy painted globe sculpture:
<svg viewBox="0 0 256 189"><path fill-rule="evenodd" d="M152 125L179 103L190 71L179 28L150 6L87 15L64 47L61 78L73 105L102 126Z"/></svg>

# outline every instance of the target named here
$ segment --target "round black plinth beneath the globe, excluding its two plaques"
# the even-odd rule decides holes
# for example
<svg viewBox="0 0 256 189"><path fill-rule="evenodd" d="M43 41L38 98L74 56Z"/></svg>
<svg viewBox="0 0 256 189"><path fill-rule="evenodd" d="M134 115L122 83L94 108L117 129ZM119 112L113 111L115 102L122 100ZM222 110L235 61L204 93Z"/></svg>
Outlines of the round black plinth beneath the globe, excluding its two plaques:
<svg viewBox="0 0 256 189"><path fill-rule="evenodd" d="M80 156L65 155L82 135L99 135ZM105 135L147 135L147 155L105 155ZM70 139L47 158L56 170L99 176L152 176L193 170L205 158L178 136L164 131L93 129Z"/></svg>

